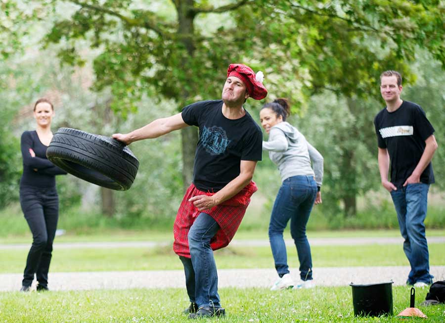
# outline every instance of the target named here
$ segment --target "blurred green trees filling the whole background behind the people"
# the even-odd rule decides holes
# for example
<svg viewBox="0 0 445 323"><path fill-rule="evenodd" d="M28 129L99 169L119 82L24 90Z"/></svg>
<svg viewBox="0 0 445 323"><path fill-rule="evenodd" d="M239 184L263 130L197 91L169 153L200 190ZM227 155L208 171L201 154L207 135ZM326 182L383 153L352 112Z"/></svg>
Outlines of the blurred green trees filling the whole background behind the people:
<svg viewBox="0 0 445 323"><path fill-rule="evenodd" d="M33 126L37 98L54 101L54 131L111 135L221 97L231 62L265 72L266 101L291 99L290 121L325 158L324 203L316 213L327 223L359 218L360 201L380 190L372 120L384 107L382 71L402 72L402 98L424 108L443 142L441 1L13 0L0 6L0 114L6 121L0 206L17 200L18 138ZM263 103L248 100L246 108L257 117ZM196 138L189 127L132 144L141 166L128 192L61 177L62 207L95 210L129 226L140 219L171 223L191 180ZM439 148L433 163L438 189L444 157ZM249 209L267 218L280 183L266 154L255 181L259 206ZM372 204L365 208L385 206Z"/></svg>

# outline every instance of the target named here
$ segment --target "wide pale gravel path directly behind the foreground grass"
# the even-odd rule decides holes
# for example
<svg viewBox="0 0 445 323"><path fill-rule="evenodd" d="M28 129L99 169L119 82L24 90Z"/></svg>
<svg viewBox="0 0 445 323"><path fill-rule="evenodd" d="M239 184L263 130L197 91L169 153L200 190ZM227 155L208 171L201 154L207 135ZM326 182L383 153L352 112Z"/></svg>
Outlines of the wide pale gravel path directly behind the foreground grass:
<svg viewBox="0 0 445 323"><path fill-rule="evenodd" d="M403 285L409 268L391 267L324 267L314 268L318 286L347 286L349 283L394 281ZM297 269L291 274L297 278ZM445 280L445 266L431 266L434 280ZM218 271L219 287L270 287L277 278L274 269L221 269ZM0 291L20 289L22 274L0 274ZM49 273L51 290L168 288L185 286L182 270ZM35 286L34 286L35 288Z"/></svg>

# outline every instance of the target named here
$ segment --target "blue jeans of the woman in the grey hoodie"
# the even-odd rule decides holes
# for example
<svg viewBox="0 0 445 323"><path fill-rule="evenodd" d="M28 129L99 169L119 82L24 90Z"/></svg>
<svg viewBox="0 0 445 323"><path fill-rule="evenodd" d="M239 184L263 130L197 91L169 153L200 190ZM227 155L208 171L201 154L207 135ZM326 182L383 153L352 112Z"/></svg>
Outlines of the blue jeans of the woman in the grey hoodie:
<svg viewBox="0 0 445 323"><path fill-rule="evenodd" d="M316 194L317 185L312 176L290 177L284 180L278 191L270 216L269 241L275 269L280 277L289 273L283 231L290 220L291 235L300 261L300 277L303 280L312 279L312 256L306 236L306 224Z"/></svg>

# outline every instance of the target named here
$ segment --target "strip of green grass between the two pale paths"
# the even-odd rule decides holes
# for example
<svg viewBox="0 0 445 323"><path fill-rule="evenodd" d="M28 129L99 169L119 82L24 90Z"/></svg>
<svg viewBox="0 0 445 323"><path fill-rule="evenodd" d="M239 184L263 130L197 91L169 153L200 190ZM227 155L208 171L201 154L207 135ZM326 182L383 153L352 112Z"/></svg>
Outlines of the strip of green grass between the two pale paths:
<svg viewBox="0 0 445 323"><path fill-rule="evenodd" d="M445 244L430 244L430 265L445 265ZM28 250L0 250L0 273L21 273ZM227 247L215 252L219 269L273 268L270 247ZM288 261L298 268L295 248L288 247ZM317 267L409 266L401 245L313 246ZM155 248L55 248L51 272L182 270L172 246Z"/></svg>

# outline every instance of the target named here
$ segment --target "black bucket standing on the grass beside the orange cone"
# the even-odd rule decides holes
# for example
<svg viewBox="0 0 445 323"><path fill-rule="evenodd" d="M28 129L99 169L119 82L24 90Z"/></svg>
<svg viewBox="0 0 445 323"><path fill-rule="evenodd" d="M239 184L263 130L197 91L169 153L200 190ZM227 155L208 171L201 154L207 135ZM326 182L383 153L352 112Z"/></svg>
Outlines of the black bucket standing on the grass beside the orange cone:
<svg viewBox="0 0 445 323"><path fill-rule="evenodd" d="M393 315L394 281L349 285L353 291L355 316Z"/></svg>

